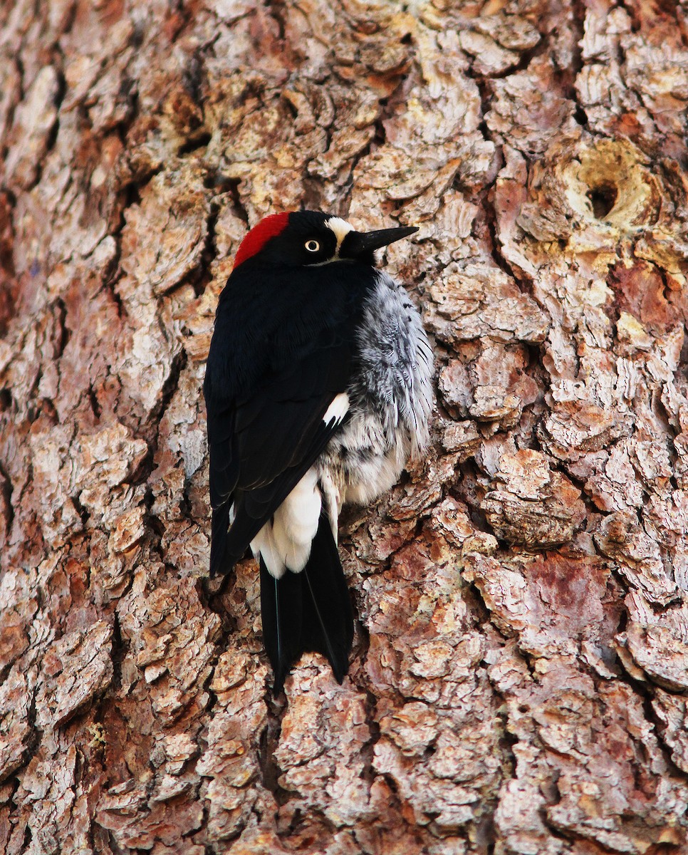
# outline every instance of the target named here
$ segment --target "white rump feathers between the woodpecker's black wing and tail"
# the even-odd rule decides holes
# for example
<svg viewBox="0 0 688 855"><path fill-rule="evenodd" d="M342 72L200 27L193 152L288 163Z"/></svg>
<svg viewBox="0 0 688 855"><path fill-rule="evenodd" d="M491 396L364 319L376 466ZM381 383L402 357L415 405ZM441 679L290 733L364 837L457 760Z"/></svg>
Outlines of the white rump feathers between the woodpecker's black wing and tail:
<svg viewBox="0 0 688 855"><path fill-rule="evenodd" d="M322 497L315 469L301 481L251 541L251 551L262 560L268 573L281 579L285 570L300 573L310 557L310 547L318 530Z"/></svg>

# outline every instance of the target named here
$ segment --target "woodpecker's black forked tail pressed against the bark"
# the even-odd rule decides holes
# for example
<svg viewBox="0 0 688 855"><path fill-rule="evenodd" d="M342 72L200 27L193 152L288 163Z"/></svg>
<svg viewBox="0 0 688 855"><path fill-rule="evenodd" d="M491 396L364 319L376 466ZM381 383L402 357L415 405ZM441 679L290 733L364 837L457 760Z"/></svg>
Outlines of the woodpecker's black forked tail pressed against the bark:
<svg viewBox="0 0 688 855"><path fill-rule="evenodd" d="M320 517L309 561L301 573L269 575L261 559L261 610L265 649L274 671L274 693L303 652L329 659L338 682L349 669L354 622L349 589L332 529Z"/></svg>

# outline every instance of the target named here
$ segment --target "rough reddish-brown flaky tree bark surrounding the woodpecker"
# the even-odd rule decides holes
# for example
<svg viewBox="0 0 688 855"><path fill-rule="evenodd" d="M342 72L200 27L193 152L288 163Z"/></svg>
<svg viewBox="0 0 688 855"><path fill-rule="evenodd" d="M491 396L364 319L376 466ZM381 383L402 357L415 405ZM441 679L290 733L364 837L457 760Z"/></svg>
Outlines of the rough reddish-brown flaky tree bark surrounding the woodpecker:
<svg viewBox="0 0 688 855"><path fill-rule="evenodd" d="M0 851L688 852L687 15L0 6ZM200 386L302 204L420 226L438 414L275 703Z"/></svg>

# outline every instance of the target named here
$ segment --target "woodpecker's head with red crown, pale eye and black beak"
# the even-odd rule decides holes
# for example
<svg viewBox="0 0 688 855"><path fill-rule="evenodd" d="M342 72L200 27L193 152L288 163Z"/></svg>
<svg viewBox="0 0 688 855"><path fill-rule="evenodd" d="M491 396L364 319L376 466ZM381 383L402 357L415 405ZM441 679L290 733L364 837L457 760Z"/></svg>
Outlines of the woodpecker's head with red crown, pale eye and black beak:
<svg viewBox="0 0 688 855"><path fill-rule="evenodd" d="M320 211L273 214L254 226L239 245L234 269L256 265L313 267L330 262L374 264L375 250L417 232L414 226L356 232L337 216Z"/></svg>

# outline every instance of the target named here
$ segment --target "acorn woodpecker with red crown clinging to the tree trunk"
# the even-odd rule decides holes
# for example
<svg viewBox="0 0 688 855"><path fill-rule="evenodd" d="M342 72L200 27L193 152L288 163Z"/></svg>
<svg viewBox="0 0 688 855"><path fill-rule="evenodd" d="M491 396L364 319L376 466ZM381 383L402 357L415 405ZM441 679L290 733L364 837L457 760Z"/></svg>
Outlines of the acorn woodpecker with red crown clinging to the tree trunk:
<svg viewBox="0 0 688 855"><path fill-rule="evenodd" d="M275 694L304 651L344 679L353 616L339 510L388 490L427 444L432 350L374 257L415 231L356 232L319 211L268 216L220 296L203 384L210 573L249 547L258 560Z"/></svg>

